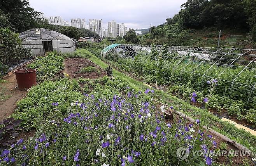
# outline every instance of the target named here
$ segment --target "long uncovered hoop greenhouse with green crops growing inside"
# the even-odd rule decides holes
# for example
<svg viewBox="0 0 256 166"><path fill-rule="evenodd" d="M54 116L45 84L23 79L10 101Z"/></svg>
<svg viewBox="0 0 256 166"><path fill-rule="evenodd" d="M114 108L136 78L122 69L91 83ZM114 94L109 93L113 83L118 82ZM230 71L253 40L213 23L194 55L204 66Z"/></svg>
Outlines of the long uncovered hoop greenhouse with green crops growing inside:
<svg viewBox="0 0 256 166"><path fill-rule="evenodd" d="M130 66L138 71L141 65L157 68L161 59L167 84L192 82L195 90L202 91L207 88L207 80L217 79L220 95L256 102L255 49L119 44L103 49L101 55L106 59L131 59ZM145 68L140 72L147 73Z"/></svg>

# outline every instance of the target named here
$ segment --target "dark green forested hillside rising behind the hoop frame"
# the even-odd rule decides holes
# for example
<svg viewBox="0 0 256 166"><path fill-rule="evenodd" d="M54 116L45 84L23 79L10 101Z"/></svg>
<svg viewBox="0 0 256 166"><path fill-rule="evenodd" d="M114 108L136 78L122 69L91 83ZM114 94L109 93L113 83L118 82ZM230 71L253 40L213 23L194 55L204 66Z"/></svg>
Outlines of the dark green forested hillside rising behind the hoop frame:
<svg viewBox="0 0 256 166"><path fill-rule="evenodd" d="M139 43L217 47L221 29L222 46L255 48L255 22L255 0L188 0Z"/></svg>

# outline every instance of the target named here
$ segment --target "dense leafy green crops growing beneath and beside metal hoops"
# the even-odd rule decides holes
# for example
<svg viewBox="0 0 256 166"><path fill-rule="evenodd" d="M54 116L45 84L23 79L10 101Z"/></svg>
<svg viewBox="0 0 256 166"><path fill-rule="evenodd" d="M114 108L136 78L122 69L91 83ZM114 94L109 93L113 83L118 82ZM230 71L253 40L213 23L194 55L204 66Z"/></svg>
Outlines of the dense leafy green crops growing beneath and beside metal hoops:
<svg viewBox="0 0 256 166"><path fill-rule="evenodd" d="M209 93L209 85L206 82L211 78L217 78L214 97L209 101L209 105L218 110L228 109L230 114L237 114L239 119L245 118L250 123L256 124L256 93L251 88L256 83L255 71L249 69L242 71L242 68L232 67L224 70L225 67L217 65L201 64L198 66L198 63L187 60L181 62L181 60L167 59L163 61L162 58L151 59L144 55L126 59L109 54L106 59L112 63L112 66L143 76L147 83L177 85L176 89L174 87L171 90L179 92L182 92L182 87L187 87L190 92L199 92L202 97ZM205 74L208 69L209 71Z"/></svg>

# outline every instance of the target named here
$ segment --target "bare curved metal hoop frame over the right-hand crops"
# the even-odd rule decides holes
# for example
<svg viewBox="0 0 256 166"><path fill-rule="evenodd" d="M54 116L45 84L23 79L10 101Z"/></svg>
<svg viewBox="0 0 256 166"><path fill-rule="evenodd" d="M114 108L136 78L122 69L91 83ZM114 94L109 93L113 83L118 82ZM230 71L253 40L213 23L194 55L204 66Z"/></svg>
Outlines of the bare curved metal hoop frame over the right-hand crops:
<svg viewBox="0 0 256 166"><path fill-rule="evenodd" d="M151 54L152 50L156 52L156 55L153 58ZM251 70L256 75L255 49L115 44L113 47L111 47L110 45L109 49L103 49L101 55L103 58L105 58L108 54L132 59L139 54L145 56L147 59L151 59L151 61L153 61L153 59L157 57L162 57L164 61L168 60L169 64L171 64L175 60L178 60L178 63L174 67L172 67L173 70L179 70L181 72L188 72L191 74L200 75L203 78L209 78L209 80L221 80L219 77L229 67L241 68L242 70L240 71L240 73L237 74L237 76L235 76L233 80L221 80L231 83L229 93L231 92L233 85L235 84L247 86L251 89L251 93L248 98L249 100L251 94L255 92L256 88L256 83L251 86L246 85L245 83L236 82L236 79L244 70ZM186 66L183 69L177 69L177 66L179 66L179 64L181 64L183 61L188 61ZM223 61L228 61L229 63L224 63ZM186 71L186 67L191 63L198 63L198 66L192 72ZM210 67L205 71L204 74L195 73L196 69L198 69L198 67L200 67L200 65L202 64L209 64ZM223 66L224 70L221 72L221 74L219 74L219 76L208 76L207 73L215 65Z"/></svg>

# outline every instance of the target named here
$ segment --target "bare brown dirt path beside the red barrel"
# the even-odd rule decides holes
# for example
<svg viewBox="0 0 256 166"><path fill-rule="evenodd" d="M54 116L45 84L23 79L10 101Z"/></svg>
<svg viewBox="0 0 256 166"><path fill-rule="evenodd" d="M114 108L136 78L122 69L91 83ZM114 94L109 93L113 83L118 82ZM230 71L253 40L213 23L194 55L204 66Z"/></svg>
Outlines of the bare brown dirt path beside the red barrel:
<svg viewBox="0 0 256 166"><path fill-rule="evenodd" d="M6 83L0 84L0 90L4 92L1 95L7 96L9 99L4 99L0 102L0 121L7 118L16 109L16 102L26 96L27 91L18 90L15 74L5 78Z"/></svg>

